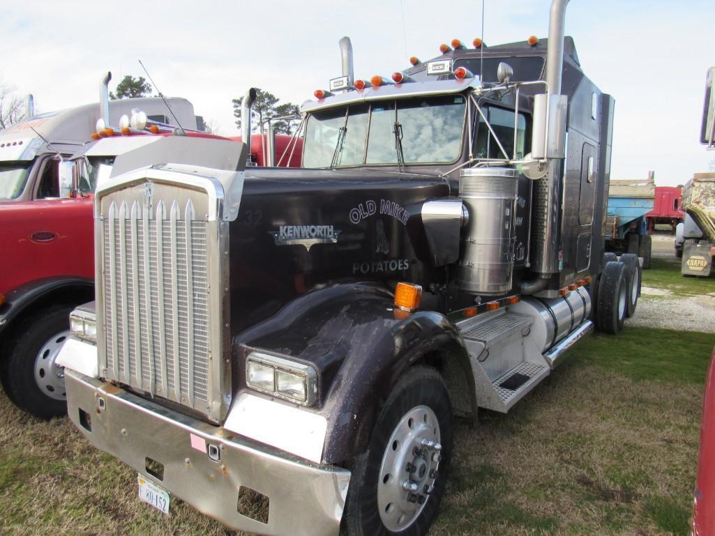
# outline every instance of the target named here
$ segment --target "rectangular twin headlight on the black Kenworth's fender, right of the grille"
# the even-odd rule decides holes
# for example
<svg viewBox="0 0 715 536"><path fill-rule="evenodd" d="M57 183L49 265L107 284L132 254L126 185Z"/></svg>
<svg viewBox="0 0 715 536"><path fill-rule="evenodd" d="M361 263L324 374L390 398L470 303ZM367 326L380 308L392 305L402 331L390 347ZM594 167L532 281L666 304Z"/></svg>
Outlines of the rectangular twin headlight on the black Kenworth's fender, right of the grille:
<svg viewBox="0 0 715 536"><path fill-rule="evenodd" d="M246 359L246 384L302 406L315 404L317 395L313 367L262 352L251 352Z"/></svg>

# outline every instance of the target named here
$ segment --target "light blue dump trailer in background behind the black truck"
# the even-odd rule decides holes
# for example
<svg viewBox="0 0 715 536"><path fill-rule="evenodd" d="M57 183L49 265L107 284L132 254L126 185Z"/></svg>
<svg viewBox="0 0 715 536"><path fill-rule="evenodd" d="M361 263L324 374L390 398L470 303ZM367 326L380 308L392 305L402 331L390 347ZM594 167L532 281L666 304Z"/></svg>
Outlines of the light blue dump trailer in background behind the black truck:
<svg viewBox="0 0 715 536"><path fill-rule="evenodd" d="M647 180L613 180L608 189L606 250L643 258L651 266L651 237L646 216L654 208L656 185L653 172Z"/></svg>

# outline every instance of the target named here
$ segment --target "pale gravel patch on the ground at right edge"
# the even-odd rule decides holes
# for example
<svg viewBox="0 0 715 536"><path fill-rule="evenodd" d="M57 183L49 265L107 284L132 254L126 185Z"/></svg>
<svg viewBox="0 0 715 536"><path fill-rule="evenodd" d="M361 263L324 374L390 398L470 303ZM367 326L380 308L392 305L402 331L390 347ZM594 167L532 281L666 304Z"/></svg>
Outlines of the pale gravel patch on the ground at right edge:
<svg viewBox="0 0 715 536"><path fill-rule="evenodd" d="M703 294L696 297L659 299L669 294L646 294L641 289L638 307L633 317L626 319L628 326L662 327L689 332L715 333L715 296ZM661 289L649 289L661 291Z"/></svg>

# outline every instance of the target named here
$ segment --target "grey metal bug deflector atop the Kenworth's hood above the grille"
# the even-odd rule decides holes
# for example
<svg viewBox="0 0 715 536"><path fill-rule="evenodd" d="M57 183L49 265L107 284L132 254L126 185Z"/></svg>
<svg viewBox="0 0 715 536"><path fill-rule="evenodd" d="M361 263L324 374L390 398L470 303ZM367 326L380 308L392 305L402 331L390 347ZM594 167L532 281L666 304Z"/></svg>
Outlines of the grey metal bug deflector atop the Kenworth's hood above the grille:
<svg viewBox="0 0 715 536"><path fill-rule="evenodd" d="M161 164L189 164L237 172L245 169L246 161L247 149L244 143L225 139L169 136L120 154L114 161L109 177L117 177L132 169Z"/></svg>

